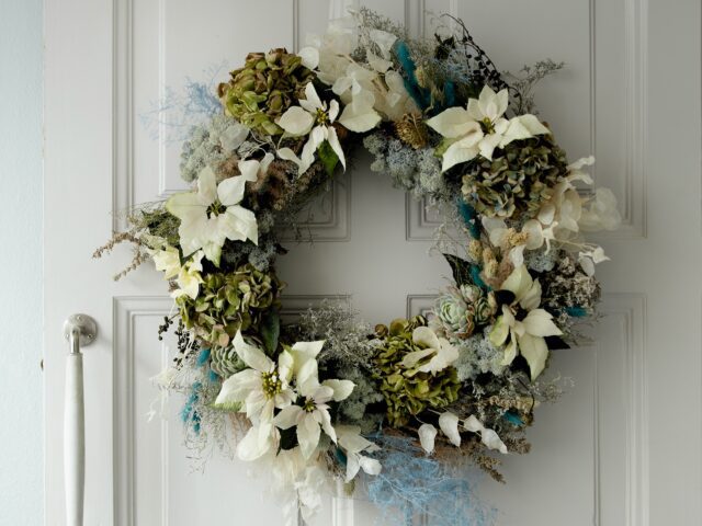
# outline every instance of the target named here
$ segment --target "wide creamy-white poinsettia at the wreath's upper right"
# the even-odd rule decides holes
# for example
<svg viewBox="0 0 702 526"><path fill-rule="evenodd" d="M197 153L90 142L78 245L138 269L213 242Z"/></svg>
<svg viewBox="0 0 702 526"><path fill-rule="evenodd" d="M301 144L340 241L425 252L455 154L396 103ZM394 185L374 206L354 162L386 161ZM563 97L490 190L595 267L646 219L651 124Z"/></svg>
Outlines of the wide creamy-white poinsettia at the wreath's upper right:
<svg viewBox="0 0 702 526"><path fill-rule="evenodd" d="M445 172L478 155L491 160L495 148L551 133L531 114L505 118L508 105L507 89L495 93L485 85L478 99L468 100L467 107L450 107L427 121L428 126L451 141L443 153L441 170Z"/></svg>

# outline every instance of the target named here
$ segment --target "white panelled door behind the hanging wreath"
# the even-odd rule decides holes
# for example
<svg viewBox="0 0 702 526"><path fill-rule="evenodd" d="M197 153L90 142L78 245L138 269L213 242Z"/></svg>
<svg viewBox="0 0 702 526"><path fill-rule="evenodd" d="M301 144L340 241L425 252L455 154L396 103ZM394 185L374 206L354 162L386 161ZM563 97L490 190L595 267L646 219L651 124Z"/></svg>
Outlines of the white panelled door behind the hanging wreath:
<svg viewBox="0 0 702 526"><path fill-rule="evenodd" d="M61 324L73 312L100 329L84 354L84 524L281 524L278 501L262 496L264 476L219 454L193 470L176 416L182 401L168 401L172 419L147 421L149 378L169 359L156 329L171 300L152 270L110 279L126 251L90 255L120 210L183 187L167 132L186 121L167 112L176 121L155 139L143 123L152 103L169 89L178 95L185 78L224 78L250 50L297 48L324 31L327 2L46 1L47 524L65 524ZM699 1L363 3L414 34L431 34L427 11L458 15L503 69L566 61L537 90L541 115L573 159L597 157L598 184L621 203L622 229L601 238L613 260L600 272L605 318L591 346L554 364L575 388L540 409L532 453L505 462L507 485L480 482L498 524L701 524ZM281 265L288 310L350 295L376 323L421 310L442 285L448 267L426 254L431 217L367 167L361 156L312 218L314 247L291 245ZM373 514L361 500L330 501L316 524L366 525Z"/></svg>

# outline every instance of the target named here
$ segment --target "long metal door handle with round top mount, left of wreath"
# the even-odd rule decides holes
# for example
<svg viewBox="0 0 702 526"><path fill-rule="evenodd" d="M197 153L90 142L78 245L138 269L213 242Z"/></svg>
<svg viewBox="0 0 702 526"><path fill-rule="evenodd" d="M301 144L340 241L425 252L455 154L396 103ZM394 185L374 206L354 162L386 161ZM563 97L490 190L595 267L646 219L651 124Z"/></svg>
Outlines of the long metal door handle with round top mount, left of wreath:
<svg viewBox="0 0 702 526"><path fill-rule="evenodd" d="M82 526L86 489L86 416L83 405L83 355L80 347L98 336L95 320L73 315L64 323L69 343L66 357L66 399L64 405L64 477L66 483L66 524Z"/></svg>

